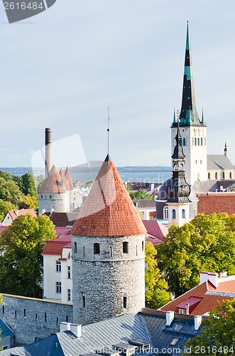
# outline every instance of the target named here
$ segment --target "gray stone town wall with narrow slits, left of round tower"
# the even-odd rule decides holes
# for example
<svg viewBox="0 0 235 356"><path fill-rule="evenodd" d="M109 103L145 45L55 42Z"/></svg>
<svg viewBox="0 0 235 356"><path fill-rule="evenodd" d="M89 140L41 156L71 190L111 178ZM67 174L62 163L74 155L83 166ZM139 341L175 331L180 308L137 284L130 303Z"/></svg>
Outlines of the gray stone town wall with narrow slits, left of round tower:
<svg viewBox="0 0 235 356"><path fill-rule="evenodd" d="M60 323L72 323L72 304L46 299L3 294L0 318L15 333L15 341L31 343L35 337L47 337L60 331Z"/></svg>

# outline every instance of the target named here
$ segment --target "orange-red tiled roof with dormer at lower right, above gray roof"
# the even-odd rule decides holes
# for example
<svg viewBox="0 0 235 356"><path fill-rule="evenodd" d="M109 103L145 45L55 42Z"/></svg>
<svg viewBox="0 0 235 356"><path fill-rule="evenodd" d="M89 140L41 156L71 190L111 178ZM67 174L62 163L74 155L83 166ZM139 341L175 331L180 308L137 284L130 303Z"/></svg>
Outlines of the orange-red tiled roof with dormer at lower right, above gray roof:
<svg viewBox="0 0 235 356"><path fill-rule="evenodd" d="M196 297L196 298L202 298L202 300L200 301L200 303L197 304L197 306L192 310L190 314L203 315L205 313L208 313L212 308L215 308L217 306L218 302L222 303L223 300L233 298L231 295L229 295L229 293L227 293L227 295L226 294L222 295L222 293L219 292L219 289L222 288L221 283L224 284L224 281L223 282L220 281L219 288L214 288L211 283L204 282L199 286L192 288L187 293L181 295L180 297L176 298L170 303L164 305L162 308L160 308L160 310L163 311L173 310L175 311L175 313L177 313L180 304L182 305L182 303L188 301L190 297ZM235 288L234 281L230 281L229 285L226 286L228 290L224 290L224 292L225 291L231 292L231 289L235 291L235 289L232 286L234 286ZM212 290L214 290L214 292L212 292Z"/></svg>

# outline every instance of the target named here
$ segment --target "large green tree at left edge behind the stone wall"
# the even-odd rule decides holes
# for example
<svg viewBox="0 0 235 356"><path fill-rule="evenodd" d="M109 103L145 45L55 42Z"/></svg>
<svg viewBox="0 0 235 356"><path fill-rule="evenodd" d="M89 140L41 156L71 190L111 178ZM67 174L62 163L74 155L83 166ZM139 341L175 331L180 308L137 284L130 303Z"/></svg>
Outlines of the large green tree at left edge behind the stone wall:
<svg viewBox="0 0 235 356"><path fill-rule="evenodd" d="M41 298L43 275L41 252L46 241L55 238L48 216L31 214L15 219L1 234L0 290L2 293Z"/></svg>

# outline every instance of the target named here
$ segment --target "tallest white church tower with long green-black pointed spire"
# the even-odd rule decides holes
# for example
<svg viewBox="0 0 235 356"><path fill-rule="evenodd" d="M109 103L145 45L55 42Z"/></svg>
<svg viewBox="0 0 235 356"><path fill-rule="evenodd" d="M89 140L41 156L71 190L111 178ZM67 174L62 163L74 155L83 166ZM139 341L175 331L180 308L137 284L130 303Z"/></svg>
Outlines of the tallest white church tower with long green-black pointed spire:
<svg viewBox="0 0 235 356"><path fill-rule="evenodd" d="M171 125L172 152L175 147L176 133L177 122L174 113ZM204 123L203 113L201 120L197 114L188 23L182 105L180 110L180 133L185 153L185 176L187 182L192 185L197 180L207 181L207 125Z"/></svg>

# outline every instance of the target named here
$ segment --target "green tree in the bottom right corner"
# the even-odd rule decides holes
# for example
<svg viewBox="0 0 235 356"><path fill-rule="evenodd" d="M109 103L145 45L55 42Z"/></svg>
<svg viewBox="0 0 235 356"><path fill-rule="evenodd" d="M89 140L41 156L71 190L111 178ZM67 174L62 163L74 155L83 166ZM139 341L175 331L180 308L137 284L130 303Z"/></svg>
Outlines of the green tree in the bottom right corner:
<svg viewBox="0 0 235 356"><path fill-rule="evenodd" d="M189 339L182 355L235 355L235 299L224 300L202 320L200 334Z"/></svg>

